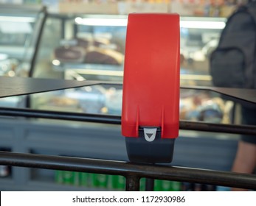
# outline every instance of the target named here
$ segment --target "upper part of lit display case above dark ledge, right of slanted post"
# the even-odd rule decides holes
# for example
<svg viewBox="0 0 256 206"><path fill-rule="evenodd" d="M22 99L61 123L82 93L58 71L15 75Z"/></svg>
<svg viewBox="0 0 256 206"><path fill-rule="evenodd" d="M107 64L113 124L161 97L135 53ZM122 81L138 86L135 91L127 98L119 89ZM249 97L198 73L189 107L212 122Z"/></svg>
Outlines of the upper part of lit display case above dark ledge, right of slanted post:
<svg viewBox="0 0 256 206"><path fill-rule="evenodd" d="M208 58L225 21L181 17L181 85L211 85ZM122 81L126 24L127 15L49 15L34 77Z"/></svg>

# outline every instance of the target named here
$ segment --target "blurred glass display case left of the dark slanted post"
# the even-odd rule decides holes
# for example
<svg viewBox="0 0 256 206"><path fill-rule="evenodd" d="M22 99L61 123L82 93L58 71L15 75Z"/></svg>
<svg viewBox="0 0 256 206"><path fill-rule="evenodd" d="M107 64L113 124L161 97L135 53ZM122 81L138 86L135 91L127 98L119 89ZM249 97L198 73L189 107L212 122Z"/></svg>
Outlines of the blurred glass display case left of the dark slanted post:
<svg viewBox="0 0 256 206"><path fill-rule="evenodd" d="M1 4L0 75L29 77L45 13L41 7ZM25 107L23 97L1 99L2 107Z"/></svg>

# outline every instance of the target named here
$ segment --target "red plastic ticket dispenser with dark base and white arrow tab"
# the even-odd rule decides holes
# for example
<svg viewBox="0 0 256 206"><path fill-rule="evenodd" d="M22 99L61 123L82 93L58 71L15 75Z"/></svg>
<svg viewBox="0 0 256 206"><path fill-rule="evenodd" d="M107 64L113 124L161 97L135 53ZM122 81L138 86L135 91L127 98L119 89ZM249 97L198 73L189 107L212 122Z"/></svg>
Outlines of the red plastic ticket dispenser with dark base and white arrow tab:
<svg viewBox="0 0 256 206"><path fill-rule="evenodd" d="M128 15L122 135L132 162L169 163L179 135L179 15Z"/></svg>

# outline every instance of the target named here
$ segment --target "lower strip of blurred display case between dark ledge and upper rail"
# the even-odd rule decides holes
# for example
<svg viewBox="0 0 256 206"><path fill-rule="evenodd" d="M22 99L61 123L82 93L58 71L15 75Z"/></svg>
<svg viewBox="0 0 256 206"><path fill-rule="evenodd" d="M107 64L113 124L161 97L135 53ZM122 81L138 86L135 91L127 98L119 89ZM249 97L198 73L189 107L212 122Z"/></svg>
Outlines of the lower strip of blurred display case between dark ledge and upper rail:
<svg viewBox="0 0 256 206"><path fill-rule="evenodd" d="M171 94L170 94L171 95ZM122 85L93 85L83 88L38 93L34 107L39 110L61 110L121 116ZM180 119L211 123L231 123L233 102L207 90L181 89Z"/></svg>

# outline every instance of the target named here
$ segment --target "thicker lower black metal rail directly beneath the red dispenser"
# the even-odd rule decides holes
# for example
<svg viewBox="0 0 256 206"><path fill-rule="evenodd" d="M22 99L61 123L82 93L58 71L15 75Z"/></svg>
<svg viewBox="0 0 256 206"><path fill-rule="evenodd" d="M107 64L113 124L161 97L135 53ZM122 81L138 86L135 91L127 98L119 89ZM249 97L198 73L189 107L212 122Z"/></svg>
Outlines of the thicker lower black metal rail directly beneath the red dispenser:
<svg viewBox="0 0 256 206"><path fill-rule="evenodd" d="M30 168L58 169L65 171L83 171L89 173L114 174L128 177L127 189L137 189L136 178L146 177L179 182L196 182L209 185L222 185L234 188L256 189L256 176L235 174L228 171L212 171L199 168L175 166L157 166L125 163L112 160L94 160L77 157L60 157L42 154L21 154L0 152L0 165L23 166Z"/></svg>

